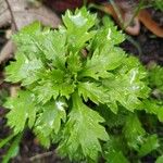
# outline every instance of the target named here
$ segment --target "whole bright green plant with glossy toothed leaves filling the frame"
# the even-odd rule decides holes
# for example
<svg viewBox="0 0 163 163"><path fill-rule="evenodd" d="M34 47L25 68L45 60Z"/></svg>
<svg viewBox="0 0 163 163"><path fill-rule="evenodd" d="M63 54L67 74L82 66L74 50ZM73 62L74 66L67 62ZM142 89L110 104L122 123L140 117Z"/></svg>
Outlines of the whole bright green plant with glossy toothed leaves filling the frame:
<svg viewBox="0 0 163 163"><path fill-rule="evenodd" d="M58 143L75 162L125 163L156 150L158 136L140 116L152 113L145 106L147 72L118 47L125 36L108 17L98 27L85 8L62 18L55 30L34 23L13 37L17 51L5 80L22 89L4 105L14 136L30 128L40 145Z"/></svg>

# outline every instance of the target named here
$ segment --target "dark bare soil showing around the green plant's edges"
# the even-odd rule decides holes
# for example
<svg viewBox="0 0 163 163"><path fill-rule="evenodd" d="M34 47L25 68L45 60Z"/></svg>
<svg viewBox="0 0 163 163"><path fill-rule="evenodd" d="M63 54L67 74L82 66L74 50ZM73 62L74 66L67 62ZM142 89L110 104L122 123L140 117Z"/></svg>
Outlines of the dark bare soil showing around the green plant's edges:
<svg viewBox="0 0 163 163"><path fill-rule="evenodd" d="M163 13L155 12L154 10L150 10L153 17L163 25ZM0 29L3 30L3 29ZM154 61L161 65L163 65L163 39L154 37L150 32L148 32L143 26L141 26L140 35L137 37L131 37L140 50L134 46L130 41L126 40L121 45L121 47L131 54L138 55L140 61L143 64L148 64L151 61ZM0 49L5 42L5 38L3 33L0 33ZM4 65L0 65L0 84L3 80L2 70ZM0 85L0 91L2 89L8 90L9 85L3 83ZM1 98L1 97L0 97ZM5 126L7 120L4 115L7 110L0 106L0 139L5 138L10 133L10 129ZM63 163L67 160L61 160L54 151L55 147L51 147L49 150L43 149L38 145L34 135L27 130L23 137L21 142L21 152L20 154L13 159L12 163ZM2 154L4 154L7 149L0 149L0 162L2 159ZM151 158L146 160L145 162L152 163L154 162Z"/></svg>

